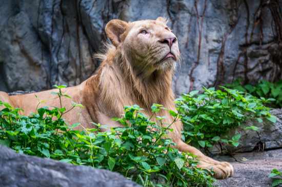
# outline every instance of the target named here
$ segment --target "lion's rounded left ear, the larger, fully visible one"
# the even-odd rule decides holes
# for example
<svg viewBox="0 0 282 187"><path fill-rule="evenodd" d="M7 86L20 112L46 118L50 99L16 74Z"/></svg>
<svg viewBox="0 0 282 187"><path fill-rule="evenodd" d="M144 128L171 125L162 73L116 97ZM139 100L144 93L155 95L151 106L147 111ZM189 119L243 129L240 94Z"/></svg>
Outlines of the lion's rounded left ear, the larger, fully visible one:
<svg viewBox="0 0 282 187"><path fill-rule="evenodd" d="M105 31L107 36L111 40L112 44L117 47L119 43L122 42L123 39L120 36L125 33L127 28L128 28L127 22L119 19L113 19L110 22L108 22Z"/></svg>

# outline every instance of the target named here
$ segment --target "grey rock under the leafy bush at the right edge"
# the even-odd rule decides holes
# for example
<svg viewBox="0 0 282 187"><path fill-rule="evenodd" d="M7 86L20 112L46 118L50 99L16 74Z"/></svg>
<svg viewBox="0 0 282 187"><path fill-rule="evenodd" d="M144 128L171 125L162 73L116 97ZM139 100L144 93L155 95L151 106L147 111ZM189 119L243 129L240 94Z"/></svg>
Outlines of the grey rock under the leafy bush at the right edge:
<svg viewBox="0 0 282 187"><path fill-rule="evenodd" d="M260 149L271 149L271 148L282 148L282 108L270 111L272 115L277 117L276 123L272 123L268 120L264 120L262 123L258 123L257 120L247 120L244 125L258 127L259 130L242 130L232 129L228 134L229 137L233 137L235 134L240 134L239 145L236 149L229 147L226 143L221 144L222 150L231 149L239 152L252 151L255 146L256 150ZM220 146L217 145L209 149L212 153L217 153L221 150Z"/></svg>

